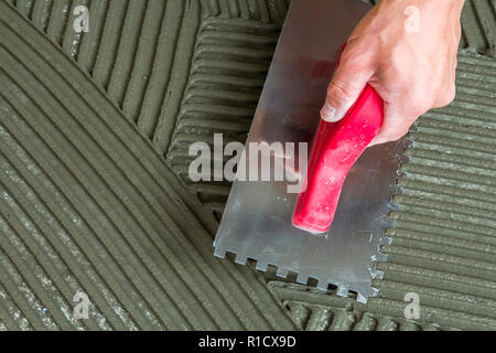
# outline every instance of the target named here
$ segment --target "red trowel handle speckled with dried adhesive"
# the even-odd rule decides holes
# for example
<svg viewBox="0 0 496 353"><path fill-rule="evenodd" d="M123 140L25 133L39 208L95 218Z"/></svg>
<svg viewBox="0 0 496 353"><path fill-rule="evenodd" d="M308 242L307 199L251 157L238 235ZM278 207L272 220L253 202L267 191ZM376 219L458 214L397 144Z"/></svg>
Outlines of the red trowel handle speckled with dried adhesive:
<svg viewBox="0 0 496 353"><path fill-rule="evenodd" d="M317 234L331 227L345 178L379 132L382 119L384 101L367 85L343 120L321 121L294 226Z"/></svg>

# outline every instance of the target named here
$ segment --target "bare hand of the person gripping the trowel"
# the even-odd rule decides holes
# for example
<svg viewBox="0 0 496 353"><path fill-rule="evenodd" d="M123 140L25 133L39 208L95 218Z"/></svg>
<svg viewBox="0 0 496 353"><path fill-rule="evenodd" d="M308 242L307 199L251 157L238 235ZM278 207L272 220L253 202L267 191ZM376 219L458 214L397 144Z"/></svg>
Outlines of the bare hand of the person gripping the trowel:
<svg viewBox="0 0 496 353"><path fill-rule="evenodd" d="M321 116L341 120L369 83L385 100L370 143L396 141L455 96L464 0L382 0L356 26L327 89Z"/></svg>

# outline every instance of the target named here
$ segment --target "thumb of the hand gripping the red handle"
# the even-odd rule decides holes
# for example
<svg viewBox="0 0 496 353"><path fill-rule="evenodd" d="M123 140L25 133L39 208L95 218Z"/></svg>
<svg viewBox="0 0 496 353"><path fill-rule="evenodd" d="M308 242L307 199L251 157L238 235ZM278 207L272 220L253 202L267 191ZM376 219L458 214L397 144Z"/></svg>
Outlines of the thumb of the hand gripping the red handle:
<svg viewBox="0 0 496 353"><path fill-rule="evenodd" d="M328 85L327 97L321 110L322 119L328 122L339 121L344 118L373 75L371 69L366 69L364 65L357 65L347 60L344 54L333 81Z"/></svg>

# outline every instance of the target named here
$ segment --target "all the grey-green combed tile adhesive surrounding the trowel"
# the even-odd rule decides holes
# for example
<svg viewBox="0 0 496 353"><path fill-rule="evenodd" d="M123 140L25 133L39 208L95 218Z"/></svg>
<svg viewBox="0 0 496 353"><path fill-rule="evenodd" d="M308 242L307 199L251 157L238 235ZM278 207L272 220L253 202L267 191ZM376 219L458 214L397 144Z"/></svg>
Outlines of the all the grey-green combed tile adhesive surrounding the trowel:
<svg viewBox="0 0 496 353"><path fill-rule="evenodd" d="M490 0L466 2L455 101L410 133L378 298L212 255L229 184L192 183L188 146L245 141L288 6L0 0L0 330L496 329Z"/></svg>

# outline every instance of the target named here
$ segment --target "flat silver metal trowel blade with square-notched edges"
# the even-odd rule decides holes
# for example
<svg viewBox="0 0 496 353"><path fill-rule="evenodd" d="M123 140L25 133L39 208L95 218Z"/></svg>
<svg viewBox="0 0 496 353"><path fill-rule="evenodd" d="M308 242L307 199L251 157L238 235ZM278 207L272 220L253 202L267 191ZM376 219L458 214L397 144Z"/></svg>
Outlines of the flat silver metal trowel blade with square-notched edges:
<svg viewBox="0 0 496 353"><path fill-rule="evenodd" d="M292 1L247 142L306 142L311 150L341 47L369 9L358 0ZM311 277L322 290L332 284L339 296L354 291L365 302L378 292L371 280L381 276L376 261L386 260L379 247L389 243L384 229L405 147L403 140L363 154L324 236L293 227L299 194L288 192L290 182L235 181L215 255L255 259L262 271L272 265L281 277L296 272L301 284Z"/></svg>

